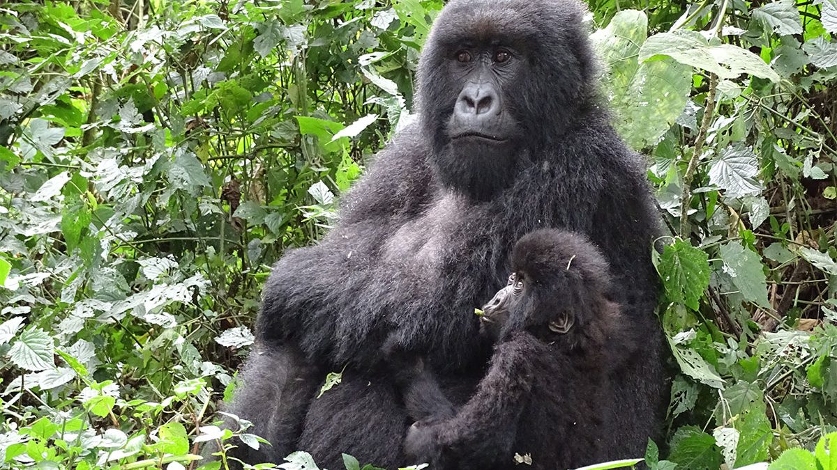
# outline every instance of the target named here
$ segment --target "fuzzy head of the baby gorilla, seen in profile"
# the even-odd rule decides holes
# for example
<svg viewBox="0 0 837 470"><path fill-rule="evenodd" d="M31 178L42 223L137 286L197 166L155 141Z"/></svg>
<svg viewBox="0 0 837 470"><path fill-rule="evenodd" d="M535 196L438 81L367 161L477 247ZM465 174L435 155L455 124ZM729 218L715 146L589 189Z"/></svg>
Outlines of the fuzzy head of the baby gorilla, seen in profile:
<svg viewBox="0 0 837 470"><path fill-rule="evenodd" d="M610 323L608 262L583 235L538 230L521 238L511 254L508 285L483 307L480 329L502 340L527 330L542 340L574 347L590 335L606 335L594 324ZM593 324L593 326L591 326Z"/></svg>

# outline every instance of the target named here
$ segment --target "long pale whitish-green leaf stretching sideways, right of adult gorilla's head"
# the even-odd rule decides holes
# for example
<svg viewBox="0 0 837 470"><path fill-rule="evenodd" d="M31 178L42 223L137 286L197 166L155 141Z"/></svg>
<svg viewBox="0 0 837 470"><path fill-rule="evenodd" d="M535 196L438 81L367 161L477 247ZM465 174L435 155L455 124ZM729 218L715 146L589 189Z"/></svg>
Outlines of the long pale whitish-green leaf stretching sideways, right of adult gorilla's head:
<svg viewBox="0 0 837 470"><path fill-rule="evenodd" d="M657 33L648 38L639 49L639 60L659 59L668 56L680 64L717 74L721 79L734 79L740 74L752 74L773 82L779 76L760 57L747 49L732 44L710 44L701 33L678 30L674 33Z"/></svg>

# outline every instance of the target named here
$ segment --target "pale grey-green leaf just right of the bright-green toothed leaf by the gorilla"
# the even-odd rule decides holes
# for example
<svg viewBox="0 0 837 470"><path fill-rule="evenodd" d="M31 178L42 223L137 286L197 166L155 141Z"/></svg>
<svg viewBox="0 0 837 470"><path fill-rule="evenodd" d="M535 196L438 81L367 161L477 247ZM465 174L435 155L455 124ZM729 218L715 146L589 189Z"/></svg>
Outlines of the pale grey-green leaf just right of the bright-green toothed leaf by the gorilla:
<svg viewBox="0 0 837 470"><path fill-rule="evenodd" d="M732 278L732 284L735 284L742 297L748 302L768 308L768 283L761 258L734 242L721 245L720 252L724 271Z"/></svg>

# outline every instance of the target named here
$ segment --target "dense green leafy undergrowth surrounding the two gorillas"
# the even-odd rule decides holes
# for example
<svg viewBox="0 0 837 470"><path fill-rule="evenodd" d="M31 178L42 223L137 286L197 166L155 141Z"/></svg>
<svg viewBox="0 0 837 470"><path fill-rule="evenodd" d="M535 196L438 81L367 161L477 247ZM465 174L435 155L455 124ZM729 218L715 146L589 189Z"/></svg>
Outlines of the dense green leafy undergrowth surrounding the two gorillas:
<svg viewBox="0 0 837 470"><path fill-rule="evenodd" d="M270 263L411 119L441 7L0 4L0 467L194 468L239 442L214 411ZM637 457L837 470L837 1L590 9L666 221L670 427Z"/></svg>

